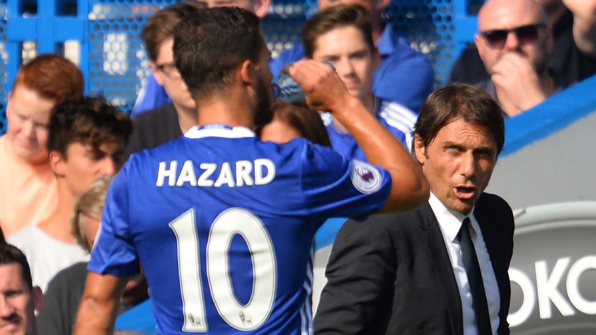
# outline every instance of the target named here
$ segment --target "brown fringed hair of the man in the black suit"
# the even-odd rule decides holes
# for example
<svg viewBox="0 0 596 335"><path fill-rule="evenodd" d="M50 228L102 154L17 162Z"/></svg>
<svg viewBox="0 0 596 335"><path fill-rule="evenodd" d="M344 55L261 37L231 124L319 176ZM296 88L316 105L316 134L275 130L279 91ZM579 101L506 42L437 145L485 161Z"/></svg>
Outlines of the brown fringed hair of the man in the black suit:
<svg viewBox="0 0 596 335"><path fill-rule="evenodd" d="M485 128L496 143L496 154L501 153L505 142L501 107L488 93L472 85L453 84L432 92L420 108L414 135L428 147L441 128L460 118Z"/></svg>

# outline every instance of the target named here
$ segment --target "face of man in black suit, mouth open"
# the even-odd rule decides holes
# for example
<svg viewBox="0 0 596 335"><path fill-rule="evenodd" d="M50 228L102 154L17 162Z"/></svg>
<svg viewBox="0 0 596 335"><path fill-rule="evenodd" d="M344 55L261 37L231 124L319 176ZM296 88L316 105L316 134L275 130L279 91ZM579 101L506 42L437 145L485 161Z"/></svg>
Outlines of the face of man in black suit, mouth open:
<svg viewBox="0 0 596 335"><path fill-rule="evenodd" d="M496 143L488 130L458 118L427 147L415 137L414 148L433 194L449 209L470 212L496 163Z"/></svg>

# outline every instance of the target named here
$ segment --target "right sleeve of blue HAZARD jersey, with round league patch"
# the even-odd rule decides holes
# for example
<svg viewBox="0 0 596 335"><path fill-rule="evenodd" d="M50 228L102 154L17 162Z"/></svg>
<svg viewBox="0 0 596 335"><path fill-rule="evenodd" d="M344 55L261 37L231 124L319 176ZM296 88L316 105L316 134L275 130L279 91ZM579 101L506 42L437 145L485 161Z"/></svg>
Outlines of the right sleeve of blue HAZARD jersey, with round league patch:
<svg viewBox="0 0 596 335"><path fill-rule="evenodd" d="M391 190L389 172L360 160L349 160L327 147L307 143L300 164L302 196L309 219L365 219L383 207Z"/></svg>

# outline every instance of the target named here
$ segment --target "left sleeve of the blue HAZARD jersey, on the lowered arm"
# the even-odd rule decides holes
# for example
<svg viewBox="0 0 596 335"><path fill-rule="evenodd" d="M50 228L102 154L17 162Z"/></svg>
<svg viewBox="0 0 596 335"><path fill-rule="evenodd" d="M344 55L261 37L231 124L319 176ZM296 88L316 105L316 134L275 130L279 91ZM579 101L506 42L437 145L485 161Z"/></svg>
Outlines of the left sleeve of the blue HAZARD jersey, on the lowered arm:
<svg viewBox="0 0 596 335"><path fill-rule="evenodd" d="M89 271L118 277L137 275L139 260L129 234L129 197L126 164L108 189L101 227L91 251Z"/></svg>

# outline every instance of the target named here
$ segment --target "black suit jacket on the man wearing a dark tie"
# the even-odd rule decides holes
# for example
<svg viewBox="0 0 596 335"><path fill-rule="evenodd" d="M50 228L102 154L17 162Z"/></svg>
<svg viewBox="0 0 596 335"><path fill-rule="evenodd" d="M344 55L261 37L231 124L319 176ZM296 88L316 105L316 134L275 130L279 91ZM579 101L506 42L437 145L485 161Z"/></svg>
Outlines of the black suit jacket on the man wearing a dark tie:
<svg viewBox="0 0 596 335"><path fill-rule="evenodd" d="M513 213L505 200L483 193L474 216L501 296L498 334L509 334ZM325 275L315 334L463 334L457 282L429 204L347 221Z"/></svg>

